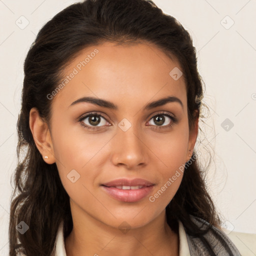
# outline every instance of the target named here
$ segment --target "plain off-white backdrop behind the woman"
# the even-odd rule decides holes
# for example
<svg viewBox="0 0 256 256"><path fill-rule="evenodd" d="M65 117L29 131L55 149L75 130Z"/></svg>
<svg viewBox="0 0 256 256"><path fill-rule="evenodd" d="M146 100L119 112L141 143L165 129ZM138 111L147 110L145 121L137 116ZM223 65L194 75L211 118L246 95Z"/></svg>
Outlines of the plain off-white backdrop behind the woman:
<svg viewBox="0 0 256 256"><path fill-rule="evenodd" d="M40 27L73 2L0 0L0 255L8 254L23 61ZM200 122L203 133L196 148L202 164L209 159L208 151L213 157L207 185L222 225L256 233L256 1L154 2L188 30L197 49L209 111Z"/></svg>

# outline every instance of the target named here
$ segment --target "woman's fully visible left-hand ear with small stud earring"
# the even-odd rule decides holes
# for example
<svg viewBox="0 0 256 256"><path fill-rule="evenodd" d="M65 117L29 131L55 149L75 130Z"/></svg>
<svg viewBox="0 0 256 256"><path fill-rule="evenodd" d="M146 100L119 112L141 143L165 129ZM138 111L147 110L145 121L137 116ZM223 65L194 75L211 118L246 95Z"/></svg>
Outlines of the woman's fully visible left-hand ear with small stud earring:
<svg viewBox="0 0 256 256"><path fill-rule="evenodd" d="M40 117L35 107L31 108L29 112L29 127L43 160L48 164L54 163L55 156L48 124Z"/></svg>

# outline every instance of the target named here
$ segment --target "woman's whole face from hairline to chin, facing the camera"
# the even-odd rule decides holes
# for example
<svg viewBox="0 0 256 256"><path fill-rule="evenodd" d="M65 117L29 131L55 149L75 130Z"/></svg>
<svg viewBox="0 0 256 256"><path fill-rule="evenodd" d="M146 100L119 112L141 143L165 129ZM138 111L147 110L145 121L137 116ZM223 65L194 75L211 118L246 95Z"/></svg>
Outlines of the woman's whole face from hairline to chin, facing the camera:
<svg viewBox="0 0 256 256"><path fill-rule="evenodd" d="M110 42L85 48L65 68L48 95L50 143L72 215L139 227L165 210L196 138L173 68L181 69L152 44ZM127 183L109 183L120 178ZM129 183L136 178L143 181Z"/></svg>

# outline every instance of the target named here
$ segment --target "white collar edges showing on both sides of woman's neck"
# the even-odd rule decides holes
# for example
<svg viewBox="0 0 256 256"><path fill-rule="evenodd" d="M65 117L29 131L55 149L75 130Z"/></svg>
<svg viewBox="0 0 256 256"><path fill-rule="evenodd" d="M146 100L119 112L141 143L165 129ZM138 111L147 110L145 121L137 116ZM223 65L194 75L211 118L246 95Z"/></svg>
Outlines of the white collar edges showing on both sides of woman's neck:
<svg viewBox="0 0 256 256"><path fill-rule="evenodd" d="M183 224L180 220L178 220L178 236L179 236L179 256L188 256L190 255L189 247L186 239L186 233L183 227ZM65 251L65 243L64 243L64 235L63 235L63 220L60 222L56 240L55 240L55 253L53 251L54 256L66 256Z"/></svg>

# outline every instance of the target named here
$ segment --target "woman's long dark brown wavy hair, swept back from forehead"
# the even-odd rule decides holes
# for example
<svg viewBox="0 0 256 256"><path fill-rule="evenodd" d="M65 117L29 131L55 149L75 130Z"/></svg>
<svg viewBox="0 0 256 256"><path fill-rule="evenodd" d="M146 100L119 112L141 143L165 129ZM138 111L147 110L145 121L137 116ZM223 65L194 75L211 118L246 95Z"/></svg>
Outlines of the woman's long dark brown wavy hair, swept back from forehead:
<svg viewBox="0 0 256 256"><path fill-rule="evenodd" d="M104 41L131 44L153 43L176 58L186 81L189 128L194 127L203 96L197 71L196 51L184 27L164 14L151 0L85 0L74 3L49 20L38 32L24 61L22 104L17 121L18 165L11 197L9 255L20 250L28 256L49 255L57 228L64 220L64 236L72 230L69 196L62 186L56 164L43 161L35 146L29 111L36 107L49 123L51 93L63 76L63 69L79 51ZM192 157L195 156L193 152ZM207 192L204 171L197 160L186 166L181 184L166 207L171 226L179 219L187 233L200 236L202 230L190 218L200 217L219 225L219 217ZM16 225L24 221L29 229L20 234Z"/></svg>

